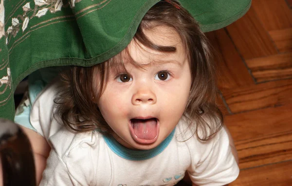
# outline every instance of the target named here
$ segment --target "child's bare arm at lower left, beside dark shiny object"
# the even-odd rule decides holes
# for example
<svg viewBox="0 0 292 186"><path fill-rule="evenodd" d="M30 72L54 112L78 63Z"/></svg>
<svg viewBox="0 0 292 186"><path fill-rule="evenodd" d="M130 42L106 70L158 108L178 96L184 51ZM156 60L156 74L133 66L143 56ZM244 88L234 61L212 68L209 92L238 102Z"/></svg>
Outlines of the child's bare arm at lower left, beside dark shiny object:
<svg viewBox="0 0 292 186"><path fill-rule="evenodd" d="M35 158L37 185L39 185L51 148L45 138L34 130L22 126L19 127L24 131L31 143Z"/></svg>

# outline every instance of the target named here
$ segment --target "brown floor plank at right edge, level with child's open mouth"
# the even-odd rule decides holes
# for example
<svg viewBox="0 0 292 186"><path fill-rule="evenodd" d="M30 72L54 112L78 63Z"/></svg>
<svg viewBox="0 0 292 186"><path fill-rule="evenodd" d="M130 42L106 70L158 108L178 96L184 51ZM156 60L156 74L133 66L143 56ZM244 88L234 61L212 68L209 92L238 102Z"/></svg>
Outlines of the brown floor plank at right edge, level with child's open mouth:
<svg viewBox="0 0 292 186"><path fill-rule="evenodd" d="M257 137L292 131L292 114L289 113L292 113L292 104L228 115L224 123L236 145L241 145Z"/></svg>

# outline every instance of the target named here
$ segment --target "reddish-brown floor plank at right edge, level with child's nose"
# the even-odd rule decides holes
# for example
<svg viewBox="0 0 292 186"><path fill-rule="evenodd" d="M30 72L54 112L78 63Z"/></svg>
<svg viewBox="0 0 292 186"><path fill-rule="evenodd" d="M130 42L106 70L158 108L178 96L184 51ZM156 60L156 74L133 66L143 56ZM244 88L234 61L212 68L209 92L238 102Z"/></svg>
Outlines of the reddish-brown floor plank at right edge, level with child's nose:
<svg viewBox="0 0 292 186"><path fill-rule="evenodd" d="M292 103L292 79L221 90L231 112L247 112Z"/></svg>

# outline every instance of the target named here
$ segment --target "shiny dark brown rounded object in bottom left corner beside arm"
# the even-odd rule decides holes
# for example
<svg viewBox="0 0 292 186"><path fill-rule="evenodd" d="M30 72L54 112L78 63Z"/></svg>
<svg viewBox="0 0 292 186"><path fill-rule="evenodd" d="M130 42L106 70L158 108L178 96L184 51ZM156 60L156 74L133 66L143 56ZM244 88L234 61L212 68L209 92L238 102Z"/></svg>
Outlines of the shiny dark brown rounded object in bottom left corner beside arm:
<svg viewBox="0 0 292 186"><path fill-rule="evenodd" d="M2 118L0 158L4 186L36 186L34 157L29 139L17 124Z"/></svg>

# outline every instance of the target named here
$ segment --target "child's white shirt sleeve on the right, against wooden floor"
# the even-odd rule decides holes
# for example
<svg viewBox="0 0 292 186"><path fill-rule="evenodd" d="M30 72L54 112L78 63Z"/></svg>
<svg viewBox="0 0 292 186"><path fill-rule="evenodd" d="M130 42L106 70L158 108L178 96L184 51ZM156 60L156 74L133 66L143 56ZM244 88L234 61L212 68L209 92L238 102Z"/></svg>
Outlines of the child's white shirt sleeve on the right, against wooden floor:
<svg viewBox="0 0 292 186"><path fill-rule="evenodd" d="M199 186L222 186L237 178L239 167L224 128L213 139L200 142L196 150L193 153L199 153L200 158L193 158L188 170L193 183Z"/></svg>

